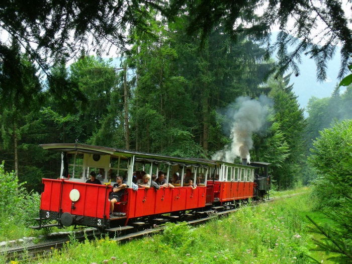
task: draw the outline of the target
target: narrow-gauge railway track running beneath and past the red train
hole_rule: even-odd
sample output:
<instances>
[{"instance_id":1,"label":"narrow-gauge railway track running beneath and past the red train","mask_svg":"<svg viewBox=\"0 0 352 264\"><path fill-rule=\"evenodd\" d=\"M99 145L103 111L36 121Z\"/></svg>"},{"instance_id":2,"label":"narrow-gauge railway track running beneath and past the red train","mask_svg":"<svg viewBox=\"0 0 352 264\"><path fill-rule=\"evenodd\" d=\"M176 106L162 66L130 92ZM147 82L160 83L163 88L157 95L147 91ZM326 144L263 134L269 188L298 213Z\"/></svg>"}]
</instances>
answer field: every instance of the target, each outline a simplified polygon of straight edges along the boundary
<instances>
[{"instance_id":1,"label":"narrow-gauge railway track running beneath and past the red train","mask_svg":"<svg viewBox=\"0 0 352 264\"><path fill-rule=\"evenodd\" d=\"M300 193L301 194L301 193ZM278 199L283 199L283 198L290 198L292 196L295 195L299 195L299 194L292 194L292 195L288 195L285 197L279 197L279 198L271 198L270 200L266 200L266 202L273 202L275 200ZM203 217L203 218L199 218L199 219L194 219L195 217L189 217L189 219L186 219L186 222L189 225L199 225L202 223L205 223L213 218L216 218L218 216L225 216L227 214L233 213L240 210L240 208L234 208L234 209L230 209L230 210L225 210L225 211L219 211L219 212L214 212L211 213L209 215L207 215L207 217ZM151 226L151 228L145 229L145 230L141 230L141 231L137 231L136 229L134 230L134 232L132 233L128 233L128 234L123 234L121 232L116 232L114 234L112 234L113 238L112 240L115 241L119 241L119 242L127 242L130 241L131 239L138 239L138 238L142 238L144 236L153 234L153 233L158 233L161 232L165 229L165 226L157 226L157 225L153 225ZM99 237L101 235L101 233L96 230L94 233L91 234L86 234L84 235L80 235L78 237L75 237L75 240L78 242L84 241L85 239L95 239L96 237ZM46 243L41 243L41 244L37 244L37 245L30 245L30 246L26 246L26 247L18 247L18 248L13 248L13 249L8 249L8 250L1 250L0 254L2 255L6 255L7 256L7 261L10 262L11 260L35 260L39 257L43 257L43 256L47 256L48 254L50 254L53 250L61 250L64 245L67 243L67 241L69 241L70 238L67 236L64 239L60 239L54 242L46 242Z\"/></svg>"}]
</instances>

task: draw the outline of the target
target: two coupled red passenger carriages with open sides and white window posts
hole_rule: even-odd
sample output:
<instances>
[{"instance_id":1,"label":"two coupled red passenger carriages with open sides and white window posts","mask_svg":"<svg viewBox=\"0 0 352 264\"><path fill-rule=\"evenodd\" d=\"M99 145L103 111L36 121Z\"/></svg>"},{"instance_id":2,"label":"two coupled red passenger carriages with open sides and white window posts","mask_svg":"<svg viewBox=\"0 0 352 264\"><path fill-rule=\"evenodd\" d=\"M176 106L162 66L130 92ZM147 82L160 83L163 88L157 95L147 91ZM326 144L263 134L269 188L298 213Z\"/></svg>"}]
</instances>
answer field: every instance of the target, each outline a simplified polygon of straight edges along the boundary
<instances>
[{"instance_id":1,"label":"two coupled red passenger carriages with open sides and white window posts","mask_svg":"<svg viewBox=\"0 0 352 264\"><path fill-rule=\"evenodd\" d=\"M83 144L43 144L44 149L61 152L60 178L43 179L39 226L47 220L57 225L83 225L113 230L158 218L182 219L209 208L253 197L254 167L222 161L169 157L122 149ZM85 183L90 172L98 174L101 185ZM166 182L174 173L178 183L167 188L136 188L135 172L152 175L162 171ZM139 174L139 173L137 173ZM109 194L116 177L123 178L127 188L115 204L110 217ZM192 180L197 188L188 186ZM150 182L149 182L150 183Z\"/></svg>"}]
</instances>

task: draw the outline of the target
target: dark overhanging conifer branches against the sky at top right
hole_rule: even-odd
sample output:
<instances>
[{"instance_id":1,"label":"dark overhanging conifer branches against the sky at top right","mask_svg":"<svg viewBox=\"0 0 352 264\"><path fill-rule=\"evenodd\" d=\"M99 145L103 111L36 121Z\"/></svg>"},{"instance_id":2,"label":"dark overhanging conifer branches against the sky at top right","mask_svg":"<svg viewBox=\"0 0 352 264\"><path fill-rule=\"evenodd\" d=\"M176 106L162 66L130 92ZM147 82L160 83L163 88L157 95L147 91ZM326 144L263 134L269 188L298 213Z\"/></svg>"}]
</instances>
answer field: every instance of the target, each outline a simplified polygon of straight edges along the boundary
<instances>
[{"instance_id":1,"label":"dark overhanging conifer branches against the sky at top right","mask_svg":"<svg viewBox=\"0 0 352 264\"><path fill-rule=\"evenodd\" d=\"M167 12L169 17L188 13L188 32L202 32L203 43L212 29L223 25L232 41L237 41L240 34L265 39L268 44L268 55L278 49L279 61L275 67L276 77L292 68L299 75L299 66L303 54L310 55L317 66L317 78L326 78L327 61L334 56L335 45L341 44L341 67L339 77L347 71L352 53L351 30L348 18L342 10L342 3L333 0L322 2L311 1L262 1L245 0L186 0L170 1ZM257 10L262 9L257 15ZM291 19L293 22L291 22ZM247 22L247 24L246 24ZM293 25L292 25L293 24ZM275 43L270 43L271 27L279 25L280 33ZM312 29L318 27L320 34ZM316 44L318 43L318 44ZM324 44L321 44L324 43ZM294 47L292 52L288 51Z\"/></svg>"}]
</instances>

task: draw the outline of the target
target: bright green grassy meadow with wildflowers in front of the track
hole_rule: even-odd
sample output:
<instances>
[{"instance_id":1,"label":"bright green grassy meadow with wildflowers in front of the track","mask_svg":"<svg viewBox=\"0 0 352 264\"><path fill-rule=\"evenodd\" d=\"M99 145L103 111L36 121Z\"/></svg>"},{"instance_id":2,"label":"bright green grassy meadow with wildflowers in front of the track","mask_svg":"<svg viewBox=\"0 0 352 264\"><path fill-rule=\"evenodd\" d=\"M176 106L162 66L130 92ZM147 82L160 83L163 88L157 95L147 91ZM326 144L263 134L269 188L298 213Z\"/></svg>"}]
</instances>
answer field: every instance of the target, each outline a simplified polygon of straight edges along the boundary
<instances>
[{"instance_id":1,"label":"bright green grassy meadow with wildflowers in front of the track","mask_svg":"<svg viewBox=\"0 0 352 264\"><path fill-rule=\"evenodd\" d=\"M228 217L190 227L168 224L156 234L125 244L108 238L76 243L53 250L50 257L35 263L313 263L311 234L306 233L305 214L309 194L243 207ZM320 255L314 255L325 260Z\"/></svg>"}]
</instances>

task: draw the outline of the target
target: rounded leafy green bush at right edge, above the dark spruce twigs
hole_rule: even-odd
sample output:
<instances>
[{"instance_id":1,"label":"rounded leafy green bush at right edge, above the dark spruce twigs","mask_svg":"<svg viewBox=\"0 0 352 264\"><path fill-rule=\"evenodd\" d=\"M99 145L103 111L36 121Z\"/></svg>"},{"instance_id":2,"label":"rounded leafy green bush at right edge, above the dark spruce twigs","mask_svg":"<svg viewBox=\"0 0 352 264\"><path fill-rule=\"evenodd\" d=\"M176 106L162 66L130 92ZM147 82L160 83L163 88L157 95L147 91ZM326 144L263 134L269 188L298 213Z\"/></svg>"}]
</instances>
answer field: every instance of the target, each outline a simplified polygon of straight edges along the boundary
<instances>
[{"instance_id":1,"label":"rounded leafy green bush at right edge, above the dark spruce twigs","mask_svg":"<svg viewBox=\"0 0 352 264\"><path fill-rule=\"evenodd\" d=\"M352 189L352 121L336 123L320 132L314 142L310 162L319 178L313 182L313 195L319 208L338 207Z\"/></svg>"}]
</instances>

